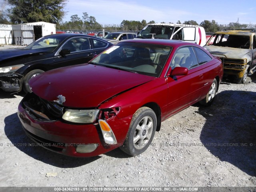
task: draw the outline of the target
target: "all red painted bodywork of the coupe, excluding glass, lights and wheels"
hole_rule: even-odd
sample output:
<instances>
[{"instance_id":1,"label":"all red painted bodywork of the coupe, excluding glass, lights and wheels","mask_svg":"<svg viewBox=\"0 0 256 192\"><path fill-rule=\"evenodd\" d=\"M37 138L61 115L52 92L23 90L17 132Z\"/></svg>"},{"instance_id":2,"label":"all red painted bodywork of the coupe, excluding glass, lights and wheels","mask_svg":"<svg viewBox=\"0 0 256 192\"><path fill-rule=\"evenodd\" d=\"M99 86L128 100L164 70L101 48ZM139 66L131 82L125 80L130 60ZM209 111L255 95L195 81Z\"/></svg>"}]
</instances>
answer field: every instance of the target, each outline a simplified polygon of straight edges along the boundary
<instances>
[{"instance_id":1,"label":"all red painted bodywork of the coupe, excluding glass, lights and wheels","mask_svg":"<svg viewBox=\"0 0 256 192\"><path fill-rule=\"evenodd\" d=\"M106 153L122 145L128 132L132 116L142 106L158 106L158 120L164 121L188 106L202 100L217 78L222 80L223 69L219 59L196 44L175 40L128 40L127 42L162 44L172 46L172 52L159 77L132 73L113 68L81 64L45 72L30 80L34 94L52 102L63 95L66 108L96 108L102 111L116 109L116 114L106 121L110 125L117 145L106 146L98 125L72 124L58 119L52 122L38 121L25 110L23 102L18 107L18 116L26 133L50 142L64 144L98 144L94 152L77 153L75 146L64 146L60 150L48 148L60 154L90 157ZM117 44L118 45L118 44ZM182 46L196 46L212 58L207 63L190 68L188 74L169 76L175 52ZM104 114L104 112L103 112ZM102 118L102 117L98 117ZM159 125L159 124L158 124Z\"/></svg>"}]
</instances>

